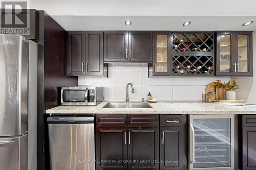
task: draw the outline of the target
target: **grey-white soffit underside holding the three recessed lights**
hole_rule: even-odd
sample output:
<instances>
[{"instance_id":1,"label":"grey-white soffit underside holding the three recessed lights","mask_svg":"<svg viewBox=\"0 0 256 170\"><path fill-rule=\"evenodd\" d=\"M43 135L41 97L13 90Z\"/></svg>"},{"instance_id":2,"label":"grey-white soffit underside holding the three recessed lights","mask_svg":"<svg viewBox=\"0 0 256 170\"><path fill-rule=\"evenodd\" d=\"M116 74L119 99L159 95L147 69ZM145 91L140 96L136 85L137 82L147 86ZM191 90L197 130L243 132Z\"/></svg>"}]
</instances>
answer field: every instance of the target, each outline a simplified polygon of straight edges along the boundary
<instances>
[{"instance_id":1,"label":"grey-white soffit underside holding the three recessed lights","mask_svg":"<svg viewBox=\"0 0 256 170\"><path fill-rule=\"evenodd\" d=\"M254 31L256 16L52 16L65 30L197 30L197 31ZM132 21L126 26L124 21ZM183 27L184 21L191 24ZM254 20L250 26L243 27L246 21Z\"/></svg>"}]
</instances>

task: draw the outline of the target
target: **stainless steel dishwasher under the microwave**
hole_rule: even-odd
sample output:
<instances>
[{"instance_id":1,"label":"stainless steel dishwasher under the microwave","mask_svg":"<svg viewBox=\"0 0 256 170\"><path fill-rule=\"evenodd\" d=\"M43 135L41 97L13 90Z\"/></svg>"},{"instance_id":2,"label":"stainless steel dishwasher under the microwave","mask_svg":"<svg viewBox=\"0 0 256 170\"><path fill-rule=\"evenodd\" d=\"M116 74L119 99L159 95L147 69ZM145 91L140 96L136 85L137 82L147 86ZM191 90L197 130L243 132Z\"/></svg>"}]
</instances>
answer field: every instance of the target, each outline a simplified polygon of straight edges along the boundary
<instances>
[{"instance_id":1,"label":"stainless steel dishwasher under the microwave","mask_svg":"<svg viewBox=\"0 0 256 170\"><path fill-rule=\"evenodd\" d=\"M48 117L51 170L94 170L94 117Z\"/></svg>"}]
</instances>

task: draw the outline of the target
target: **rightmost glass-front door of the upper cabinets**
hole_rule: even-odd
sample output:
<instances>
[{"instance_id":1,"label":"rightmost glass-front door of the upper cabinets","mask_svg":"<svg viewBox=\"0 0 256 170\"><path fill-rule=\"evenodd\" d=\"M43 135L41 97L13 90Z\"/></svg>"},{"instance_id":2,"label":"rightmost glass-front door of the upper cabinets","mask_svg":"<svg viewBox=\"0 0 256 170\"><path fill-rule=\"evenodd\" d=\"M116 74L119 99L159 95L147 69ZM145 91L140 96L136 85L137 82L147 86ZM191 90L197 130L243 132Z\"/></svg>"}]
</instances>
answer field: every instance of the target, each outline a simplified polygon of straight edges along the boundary
<instances>
[{"instance_id":1,"label":"rightmost glass-front door of the upper cabinets","mask_svg":"<svg viewBox=\"0 0 256 170\"><path fill-rule=\"evenodd\" d=\"M251 32L236 32L236 39L237 39L237 75L240 76L250 76L252 74L251 67L252 67L252 33Z\"/></svg>"}]
</instances>

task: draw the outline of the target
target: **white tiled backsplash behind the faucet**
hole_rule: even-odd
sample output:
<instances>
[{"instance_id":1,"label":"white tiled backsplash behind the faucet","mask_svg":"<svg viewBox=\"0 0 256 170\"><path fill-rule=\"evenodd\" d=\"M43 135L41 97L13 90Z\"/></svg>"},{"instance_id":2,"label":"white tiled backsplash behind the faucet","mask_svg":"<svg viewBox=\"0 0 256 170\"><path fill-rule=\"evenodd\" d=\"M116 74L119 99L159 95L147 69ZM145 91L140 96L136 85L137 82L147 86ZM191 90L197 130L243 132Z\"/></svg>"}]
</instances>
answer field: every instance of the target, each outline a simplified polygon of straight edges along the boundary
<instances>
[{"instance_id":1,"label":"white tiled backsplash behind the faucet","mask_svg":"<svg viewBox=\"0 0 256 170\"><path fill-rule=\"evenodd\" d=\"M227 82L230 77L161 77L147 78L147 67L142 66L111 66L109 67L109 78L78 78L78 85L103 86L106 101L124 101L126 95L126 84L134 85L135 93L131 93L129 87L130 101L147 99L150 91L153 98L168 101L199 101L202 99L205 87L210 82L221 79Z\"/></svg>"}]
</instances>

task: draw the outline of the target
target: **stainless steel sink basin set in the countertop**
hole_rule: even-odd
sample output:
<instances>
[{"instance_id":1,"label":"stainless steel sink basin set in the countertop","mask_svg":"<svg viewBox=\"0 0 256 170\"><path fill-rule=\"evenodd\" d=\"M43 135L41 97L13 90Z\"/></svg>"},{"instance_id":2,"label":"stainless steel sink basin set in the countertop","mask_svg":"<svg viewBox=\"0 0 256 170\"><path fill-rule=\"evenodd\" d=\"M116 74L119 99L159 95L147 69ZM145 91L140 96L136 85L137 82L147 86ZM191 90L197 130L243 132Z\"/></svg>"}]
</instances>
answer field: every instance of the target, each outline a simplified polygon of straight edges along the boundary
<instances>
[{"instance_id":1,"label":"stainless steel sink basin set in the countertop","mask_svg":"<svg viewBox=\"0 0 256 170\"><path fill-rule=\"evenodd\" d=\"M109 102L104 108L152 108L150 105L144 102L140 103L111 103Z\"/></svg>"}]
</instances>

